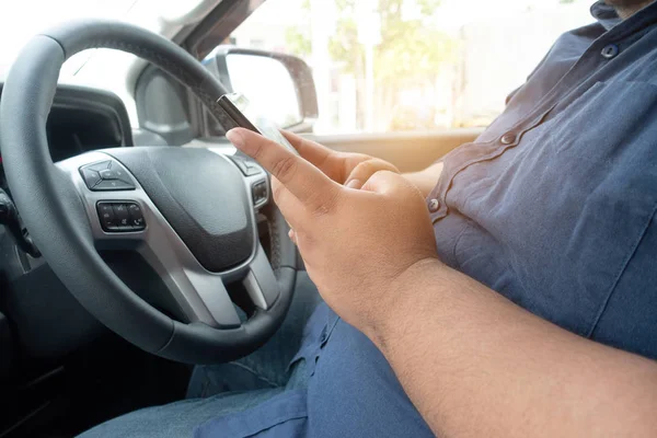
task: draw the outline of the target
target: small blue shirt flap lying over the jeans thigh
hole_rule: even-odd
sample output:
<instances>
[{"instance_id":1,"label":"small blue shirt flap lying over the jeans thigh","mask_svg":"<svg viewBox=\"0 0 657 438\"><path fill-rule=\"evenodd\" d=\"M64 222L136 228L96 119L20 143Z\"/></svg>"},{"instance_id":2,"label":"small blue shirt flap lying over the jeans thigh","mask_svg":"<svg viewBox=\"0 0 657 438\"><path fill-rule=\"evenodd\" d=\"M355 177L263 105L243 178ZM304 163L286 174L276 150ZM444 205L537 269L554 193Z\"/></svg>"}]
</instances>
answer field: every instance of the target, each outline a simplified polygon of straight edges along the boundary
<instances>
[{"instance_id":1,"label":"small blue shirt flap lying over the jeans thigh","mask_svg":"<svg viewBox=\"0 0 657 438\"><path fill-rule=\"evenodd\" d=\"M198 426L195 438L287 438L308 433L306 391L287 391L270 400Z\"/></svg>"}]
</instances>

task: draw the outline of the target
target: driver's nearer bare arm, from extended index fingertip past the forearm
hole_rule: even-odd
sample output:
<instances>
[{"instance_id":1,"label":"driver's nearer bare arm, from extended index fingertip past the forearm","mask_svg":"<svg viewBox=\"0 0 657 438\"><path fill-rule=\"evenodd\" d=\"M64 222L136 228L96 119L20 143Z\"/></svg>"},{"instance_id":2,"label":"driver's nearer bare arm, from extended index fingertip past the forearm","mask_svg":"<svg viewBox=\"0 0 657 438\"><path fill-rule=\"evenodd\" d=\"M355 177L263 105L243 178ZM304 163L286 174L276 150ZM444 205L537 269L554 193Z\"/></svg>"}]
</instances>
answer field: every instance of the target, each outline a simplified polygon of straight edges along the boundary
<instances>
[{"instance_id":1,"label":"driver's nearer bare arm, from extended index fingertip past the forearm","mask_svg":"<svg viewBox=\"0 0 657 438\"><path fill-rule=\"evenodd\" d=\"M437 260L417 188L357 191L245 129L322 297L377 344L441 437L652 437L657 365L576 336Z\"/></svg>"}]
</instances>

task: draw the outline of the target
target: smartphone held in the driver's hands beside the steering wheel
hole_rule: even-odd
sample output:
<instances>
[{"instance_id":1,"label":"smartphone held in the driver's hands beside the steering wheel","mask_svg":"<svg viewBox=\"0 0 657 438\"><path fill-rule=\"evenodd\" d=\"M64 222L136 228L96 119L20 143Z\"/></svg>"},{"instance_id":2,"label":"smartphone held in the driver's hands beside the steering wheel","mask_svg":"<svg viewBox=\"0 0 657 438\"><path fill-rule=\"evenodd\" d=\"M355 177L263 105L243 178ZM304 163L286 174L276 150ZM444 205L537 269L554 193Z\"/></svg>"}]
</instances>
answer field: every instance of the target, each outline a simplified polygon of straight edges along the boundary
<instances>
[{"instance_id":1,"label":"smartphone held in the driver's hands beside the steering wheel","mask_svg":"<svg viewBox=\"0 0 657 438\"><path fill-rule=\"evenodd\" d=\"M235 127L246 128L261 134L272 141L289 149L297 155L297 149L280 134L278 127L263 116L254 105L241 93L224 94L217 101L221 110L233 122Z\"/></svg>"}]
</instances>

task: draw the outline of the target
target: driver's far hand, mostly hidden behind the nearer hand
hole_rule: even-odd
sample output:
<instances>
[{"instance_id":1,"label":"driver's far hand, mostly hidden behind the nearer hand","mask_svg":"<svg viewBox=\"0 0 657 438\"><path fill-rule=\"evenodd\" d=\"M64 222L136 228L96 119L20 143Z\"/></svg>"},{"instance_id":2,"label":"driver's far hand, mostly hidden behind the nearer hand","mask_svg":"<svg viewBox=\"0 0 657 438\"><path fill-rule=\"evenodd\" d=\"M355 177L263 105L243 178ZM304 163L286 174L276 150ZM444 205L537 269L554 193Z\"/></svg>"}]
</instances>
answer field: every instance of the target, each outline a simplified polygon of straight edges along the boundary
<instances>
[{"instance_id":1,"label":"driver's far hand, mostly hidden behind the nearer hand","mask_svg":"<svg viewBox=\"0 0 657 438\"><path fill-rule=\"evenodd\" d=\"M336 152L288 131L283 131L283 135L307 161L331 180L350 188L362 187L379 171L400 173L394 165L378 158L364 153Z\"/></svg>"}]
</instances>

